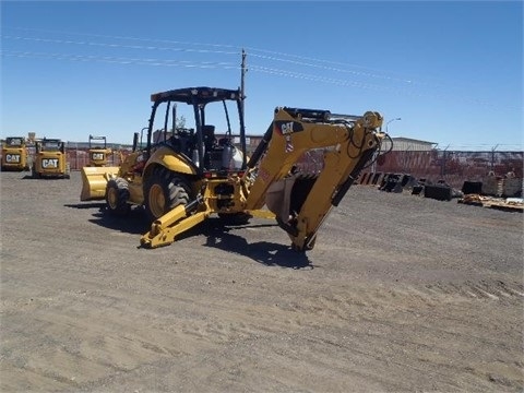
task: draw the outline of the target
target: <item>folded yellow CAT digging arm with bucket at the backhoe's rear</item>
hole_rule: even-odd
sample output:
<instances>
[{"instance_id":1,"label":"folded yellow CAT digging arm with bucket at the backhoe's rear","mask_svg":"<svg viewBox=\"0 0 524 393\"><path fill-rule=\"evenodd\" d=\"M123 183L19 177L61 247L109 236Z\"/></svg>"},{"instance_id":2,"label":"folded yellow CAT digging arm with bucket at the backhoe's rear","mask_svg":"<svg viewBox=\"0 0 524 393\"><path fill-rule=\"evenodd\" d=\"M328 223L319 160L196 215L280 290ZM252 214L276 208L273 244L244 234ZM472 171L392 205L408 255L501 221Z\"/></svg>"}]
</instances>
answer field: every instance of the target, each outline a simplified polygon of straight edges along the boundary
<instances>
[{"instance_id":1,"label":"folded yellow CAT digging arm with bucket at the backhoe's rear","mask_svg":"<svg viewBox=\"0 0 524 393\"><path fill-rule=\"evenodd\" d=\"M272 124L248 163L246 210L265 204L299 251L317 233L361 169L380 148L382 117L332 115L327 110L276 108ZM300 170L308 151L323 156L317 172ZM249 181L248 179L254 179Z\"/></svg>"}]
</instances>

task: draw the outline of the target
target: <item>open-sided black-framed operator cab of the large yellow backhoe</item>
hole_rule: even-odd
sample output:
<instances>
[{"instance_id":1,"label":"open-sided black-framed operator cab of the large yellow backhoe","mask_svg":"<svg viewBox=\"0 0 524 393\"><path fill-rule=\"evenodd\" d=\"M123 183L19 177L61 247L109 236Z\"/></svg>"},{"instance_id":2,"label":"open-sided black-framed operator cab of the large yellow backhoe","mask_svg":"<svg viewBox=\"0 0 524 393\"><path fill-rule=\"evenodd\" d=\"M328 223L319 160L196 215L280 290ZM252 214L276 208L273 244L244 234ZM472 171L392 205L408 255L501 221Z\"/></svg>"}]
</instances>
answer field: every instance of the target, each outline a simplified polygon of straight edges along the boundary
<instances>
[{"instance_id":1,"label":"open-sided black-framed operator cab of the large yellow backhoe","mask_svg":"<svg viewBox=\"0 0 524 393\"><path fill-rule=\"evenodd\" d=\"M227 174L246 168L246 132L239 91L189 87L153 94L152 100L150 153L157 145L169 146L183 154L188 164L201 174ZM234 132L240 135L240 146L233 143Z\"/></svg>"}]
</instances>

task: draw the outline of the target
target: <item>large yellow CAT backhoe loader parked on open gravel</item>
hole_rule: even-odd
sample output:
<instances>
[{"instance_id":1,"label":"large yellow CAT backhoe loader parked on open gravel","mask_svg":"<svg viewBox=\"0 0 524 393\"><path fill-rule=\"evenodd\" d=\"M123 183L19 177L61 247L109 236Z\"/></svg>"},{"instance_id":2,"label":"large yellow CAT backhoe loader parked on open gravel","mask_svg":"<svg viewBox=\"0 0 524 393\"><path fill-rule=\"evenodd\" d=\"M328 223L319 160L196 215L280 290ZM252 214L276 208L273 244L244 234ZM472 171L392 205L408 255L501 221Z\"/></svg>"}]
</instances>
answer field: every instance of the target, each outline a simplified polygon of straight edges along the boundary
<instances>
[{"instance_id":1,"label":"large yellow CAT backhoe loader parked on open gravel","mask_svg":"<svg viewBox=\"0 0 524 393\"><path fill-rule=\"evenodd\" d=\"M135 133L133 152L118 171L84 168L91 171L83 174L82 192L83 200L104 192L107 210L116 215L143 206L151 221L151 230L140 241L144 248L170 245L216 214L235 224L253 216L276 219L293 249L311 250L329 212L377 158L385 136L376 111L352 116L277 107L248 159L240 90L188 87L153 94L151 100L145 146L139 147ZM238 133L231 129L231 103ZM187 128L184 116L177 116L180 104L190 108L193 128ZM224 109L218 140L217 120L210 122L207 116L217 114L212 104ZM309 172L301 165L308 152L321 158Z\"/></svg>"}]
</instances>

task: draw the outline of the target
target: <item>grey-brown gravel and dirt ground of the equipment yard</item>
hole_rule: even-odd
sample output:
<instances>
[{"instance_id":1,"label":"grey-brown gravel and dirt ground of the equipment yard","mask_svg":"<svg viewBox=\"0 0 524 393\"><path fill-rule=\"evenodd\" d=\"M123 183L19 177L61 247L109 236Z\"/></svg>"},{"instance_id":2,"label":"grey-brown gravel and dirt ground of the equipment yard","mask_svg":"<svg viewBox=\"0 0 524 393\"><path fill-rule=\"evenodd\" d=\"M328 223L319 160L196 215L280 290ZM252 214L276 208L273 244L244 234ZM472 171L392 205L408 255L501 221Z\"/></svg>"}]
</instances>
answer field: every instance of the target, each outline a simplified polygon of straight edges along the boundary
<instances>
[{"instance_id":1,"label":"grey-brown gravel and dirt ground of the equipment yard","mask_svg":"<svg viewBox=\"0 0 524 393\"><path fill-rule=\"evenodd\" d=\"M1 392L522 392L523 215L354 186L139 249L81 176L2 172Z\"/></svg>"}]
</instances>

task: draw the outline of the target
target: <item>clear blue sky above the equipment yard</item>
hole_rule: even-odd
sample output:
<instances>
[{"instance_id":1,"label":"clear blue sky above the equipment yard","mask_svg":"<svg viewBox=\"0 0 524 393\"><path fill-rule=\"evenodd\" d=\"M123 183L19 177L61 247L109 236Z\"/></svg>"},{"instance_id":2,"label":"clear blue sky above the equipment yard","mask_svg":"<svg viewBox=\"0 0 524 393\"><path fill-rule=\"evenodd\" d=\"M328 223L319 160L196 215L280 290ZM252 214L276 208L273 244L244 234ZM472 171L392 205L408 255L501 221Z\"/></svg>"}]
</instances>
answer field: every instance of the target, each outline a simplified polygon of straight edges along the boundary
<instances>
[{"instance_id":1,"label":"clear blue sky above the equipment yard","mask_svg":"<svg viewBox=\"0 0 524 393\"><path fill-rule=\"evenodd\" d=\"M0 136L131 143L155 92L240 85L439 148L523 150L522 1L2 1Z\"/></svg>"}]
</instances>

